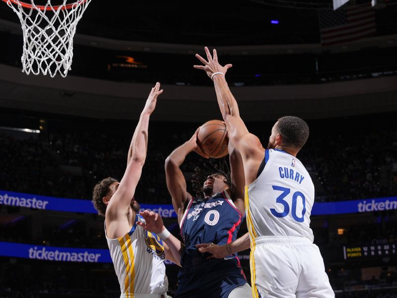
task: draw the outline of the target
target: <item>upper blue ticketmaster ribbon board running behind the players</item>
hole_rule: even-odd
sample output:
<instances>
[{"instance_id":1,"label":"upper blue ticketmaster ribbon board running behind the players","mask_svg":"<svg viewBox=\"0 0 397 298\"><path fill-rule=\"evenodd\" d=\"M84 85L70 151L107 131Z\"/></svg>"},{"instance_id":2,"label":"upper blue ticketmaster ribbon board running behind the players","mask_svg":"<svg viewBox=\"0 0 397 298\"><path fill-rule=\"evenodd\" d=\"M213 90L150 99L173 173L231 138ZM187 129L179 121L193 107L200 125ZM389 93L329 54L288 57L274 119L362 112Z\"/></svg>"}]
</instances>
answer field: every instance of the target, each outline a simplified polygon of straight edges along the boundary
<instances>
[{"instance_id":1,"label":"upper blue ticketmaster ribbon board running behind the players","mask_svg":"<svg viewBox=\"0 0 397 298\"><path fill-rule=\"evenodd\" d=\"M79 213L94 213L92 202L89 200L76 200L55 197L37 196L32 194L16 193L0 190L0 204L26 208L55 210ZM176 218L177 215L172 205L142 204L141 210L157 212L163 218ZM341 201L330 203L315 203L312 215L331 215L343 213L363 213L373 211L387 211L397 209L397 197Z\"/></svg>"}]
</instances>

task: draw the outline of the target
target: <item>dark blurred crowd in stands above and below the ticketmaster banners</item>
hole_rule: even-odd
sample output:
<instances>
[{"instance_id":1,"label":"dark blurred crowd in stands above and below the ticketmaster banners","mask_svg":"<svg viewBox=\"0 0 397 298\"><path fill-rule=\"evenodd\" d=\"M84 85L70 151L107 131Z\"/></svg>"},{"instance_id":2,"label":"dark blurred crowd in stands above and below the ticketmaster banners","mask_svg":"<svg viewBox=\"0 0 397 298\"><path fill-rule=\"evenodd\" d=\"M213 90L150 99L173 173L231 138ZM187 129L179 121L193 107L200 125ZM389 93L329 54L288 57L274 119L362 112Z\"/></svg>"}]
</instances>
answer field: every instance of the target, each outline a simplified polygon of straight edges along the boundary
<instances>
[{"instance_id":1,"label":"dark blurred crowd in stands above and below the ticketmaster banners","mask_svg":"<svg viewBox=\"0 0 397 298\"><path fill-rule=\"evenodd\" d=\"M308 121L310 137L298 158L313 179L317 201L396 196L397 124L391 118L391 115L368 115ZM135 125L136 122L127 121L48 120L40 134L2 130L0 189L91 200L92 188L102 178L122 178ZM272 125L273 122L247 123L250 132L264 146ZM138 202L171 203L164 161L173 149L190 139L198 126L198 123L150 123L147 159L135 193ZM208 160L192 152L182 165L189 191L192 191L189 180L194 168L204 163ZM15 207L0 207L7 209L7 214L18 212ZM18 222L2 225L0 240L106 249L103 223L95 215L79 215L71 217L72 220L65 217L59 221L63 224L49 221L41 224L40 234L32 230L33 217L32 213ZM325 224L313 227L315 243L322 250L336 298L397 297L395 269L382 271L366 281L361 278L360 270L356 273L348 269L331 270L329 264L333 259L340 262L342 258L343 245L396 243L393 211L375 212L366 220L370 222L341 224L344 228L341 234L329 228L328 219L324 219ZM175 221L165 220L165 223L172 232L178 228ZM245 232L244 228L241 232ZM40 261L0 258L0 265L0 298L119 297L111 264L46 262L44 265ZM242 260L242 265L249 277L248 261ZM177 268L173 267L167 266L171 296L177 283ZM37 272L41 272L40 276Z\"/></svg>"}]
</instances>

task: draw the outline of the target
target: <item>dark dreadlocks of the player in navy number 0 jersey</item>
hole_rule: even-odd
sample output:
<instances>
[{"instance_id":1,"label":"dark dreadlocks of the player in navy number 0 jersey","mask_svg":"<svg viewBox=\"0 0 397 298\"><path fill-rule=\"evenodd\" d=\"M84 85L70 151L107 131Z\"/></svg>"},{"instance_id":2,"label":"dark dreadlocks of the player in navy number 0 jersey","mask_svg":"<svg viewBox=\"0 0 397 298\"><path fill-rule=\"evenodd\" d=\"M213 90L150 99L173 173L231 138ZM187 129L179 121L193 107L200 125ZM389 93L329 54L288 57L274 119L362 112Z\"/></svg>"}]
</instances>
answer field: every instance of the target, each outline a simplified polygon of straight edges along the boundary
<instances>
[{"instance_id":1,"label":"dark dreadlocks of the player in navy number 0 jersey","mask_svg":"<svg viewBox=\"0 0 397 298\"><path fill-rule=\"evenodd\" d=\"M205 180L207 180L207 177L209 175L222 175L226 179L225 183L229 187L231 187L232 185L230 169L226 159L220 158L216 161L210 160L209 164L204 163L203 167L198 166L195 168L195 173L193 174L193 179L191 181L192 181L193 190L196 193L196 198L202 199L203 197L202 193L204 191L202 184L204 183Z\"/></svg>"}]
</instances>

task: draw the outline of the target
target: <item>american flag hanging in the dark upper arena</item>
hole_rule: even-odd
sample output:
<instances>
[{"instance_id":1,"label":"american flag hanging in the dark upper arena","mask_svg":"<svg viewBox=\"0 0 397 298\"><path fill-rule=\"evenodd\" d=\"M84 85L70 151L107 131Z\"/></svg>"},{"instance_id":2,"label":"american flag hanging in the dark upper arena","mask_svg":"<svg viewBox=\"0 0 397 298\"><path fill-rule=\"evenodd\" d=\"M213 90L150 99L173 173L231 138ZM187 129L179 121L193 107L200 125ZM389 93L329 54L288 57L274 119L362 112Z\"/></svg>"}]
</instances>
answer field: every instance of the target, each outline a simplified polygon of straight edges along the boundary
<instances>
[{"instance_id":1,"label":"american flag hanging in the dark upper arena","mask_svg":"<svg viewBox=\"0 0 397 298\"><path fill-rule=\"evenodd\" d=\"M376 33L375 11L371 6L319 10L321 44L331 46Z\"/></svg>"}]
</instances>

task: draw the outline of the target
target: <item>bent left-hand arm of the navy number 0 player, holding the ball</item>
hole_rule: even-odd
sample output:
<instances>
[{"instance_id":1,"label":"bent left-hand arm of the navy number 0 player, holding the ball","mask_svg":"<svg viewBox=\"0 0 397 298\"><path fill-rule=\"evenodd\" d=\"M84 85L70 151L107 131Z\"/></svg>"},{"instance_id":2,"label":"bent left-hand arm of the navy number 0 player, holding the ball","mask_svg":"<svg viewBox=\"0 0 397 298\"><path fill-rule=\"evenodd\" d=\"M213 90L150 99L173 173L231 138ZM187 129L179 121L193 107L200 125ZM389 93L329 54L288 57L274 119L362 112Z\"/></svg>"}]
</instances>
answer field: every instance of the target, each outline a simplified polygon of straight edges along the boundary
<instances>
[{"instance_id":1,"label":"bent left-hand arm of the navy number 0 player, holding the ball","mask_svg":"<svg viewBox=\"0 0 397 298\"><path fill-rule=\"evenodd\" d=\"M201 152L197 145L199 130L200 128L196 130L189 141L172 151L165 160L165 178L168 191L172 197L172 205L178 215L178 223L181 222L187 203L192 200L191 194L186 190L186 180L180 166L185 161L186 156L192 151L196 151L201 156L208 158Z\"/></svg>"}]
</instances>

